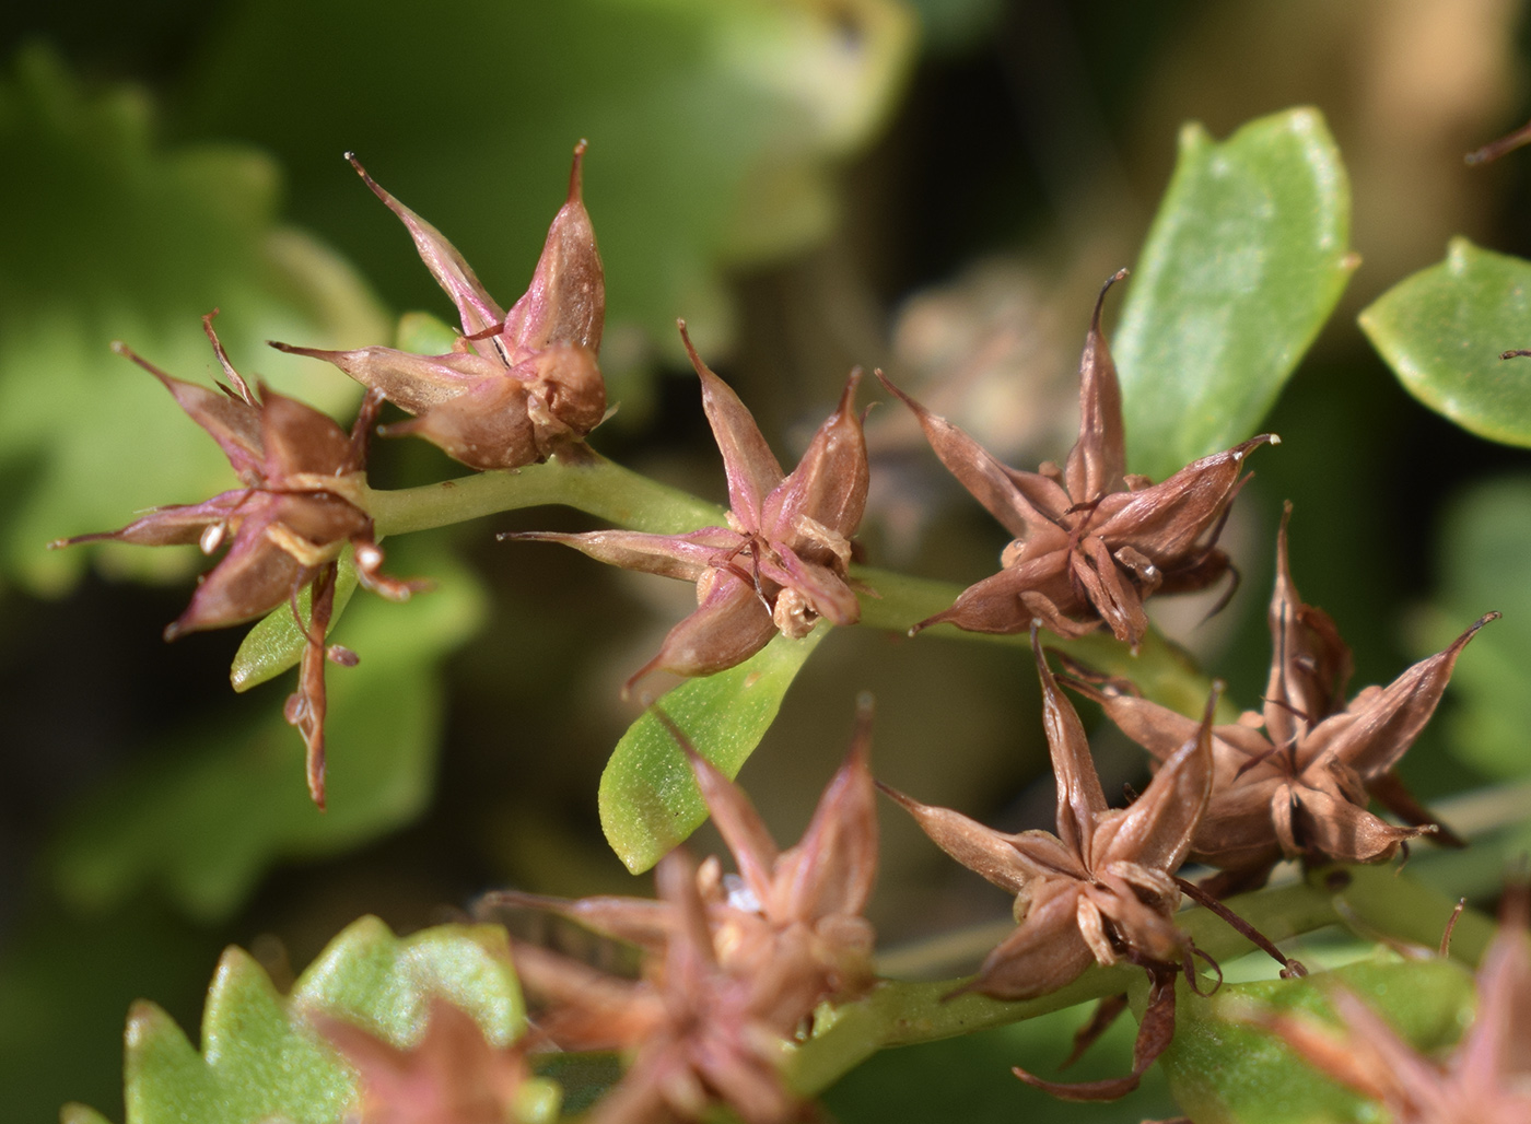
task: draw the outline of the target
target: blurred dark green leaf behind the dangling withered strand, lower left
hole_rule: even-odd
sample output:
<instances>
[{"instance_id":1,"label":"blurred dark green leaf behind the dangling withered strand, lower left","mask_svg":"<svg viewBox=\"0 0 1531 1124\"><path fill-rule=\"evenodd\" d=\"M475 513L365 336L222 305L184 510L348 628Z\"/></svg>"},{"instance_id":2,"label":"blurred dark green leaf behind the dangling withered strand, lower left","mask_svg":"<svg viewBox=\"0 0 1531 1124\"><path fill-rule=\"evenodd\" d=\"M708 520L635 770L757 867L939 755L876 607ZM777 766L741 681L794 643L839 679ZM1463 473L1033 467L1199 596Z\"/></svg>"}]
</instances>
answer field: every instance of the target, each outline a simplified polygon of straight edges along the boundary
<instances>
[{"instance_id":1,"label":"blurred dark green leaf behind the dangling withered strand, lower left","mask_svg":"<svg viewBox=\"0 0 1531 1124\"><path fill-rule=\"evenodd\" d=\"M66 821L54 861L64 897L98 910L156 884L191 916L222 919L276 859L334 854L419 815L442 718L438 665L484 606L478 580L447 557L421 571L436 590L403 605L363 596L337 634L361 663L328 675L328 812L308 798L303 741L280 697L246 698L259 717L220 738L188 732Z\"/></svg>"}]
</instances>

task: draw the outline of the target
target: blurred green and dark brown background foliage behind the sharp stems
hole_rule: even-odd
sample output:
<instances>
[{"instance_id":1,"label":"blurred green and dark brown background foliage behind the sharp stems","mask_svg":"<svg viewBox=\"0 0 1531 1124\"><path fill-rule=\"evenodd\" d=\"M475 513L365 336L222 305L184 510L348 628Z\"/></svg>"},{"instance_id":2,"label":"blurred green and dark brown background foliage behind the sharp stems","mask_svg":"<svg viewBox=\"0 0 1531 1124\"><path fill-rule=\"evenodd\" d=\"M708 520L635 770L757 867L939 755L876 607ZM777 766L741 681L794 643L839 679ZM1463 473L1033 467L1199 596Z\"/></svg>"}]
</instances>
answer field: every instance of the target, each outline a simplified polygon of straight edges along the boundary
<instances>
[{"instance_id":1,"label":"blurred green and dark brown background foliage behind the sharp stems","mask_svg":"<svg viewBox=\"0 0 1531 1124\"><path fill-rule=\"evenodd\" d=\"M228 484L217 449L110 354L113 338L205 378L197 317L219 306L240 371L344 418L354 386L262 341L361 346L386 341L403 311L447 314L398 222L341 161L348 149L510 303L562 201L570 150L588 138L609 285L602 363L620 401L594 444L721 498L695 380L677 363L677 315L782 459L862 363L1029 467L1072 439L1092 296L1136 259L1180 123L1225 136L1317 106L1352 176L1364 263L1268 424L1283 447L1262 453L1228 527L1242 591L1211 623L1170 605L1164 625L1254 703L1289 498L1297 582L1353 646L1356 686L1390 680L1488 608L1507 613L1464 660L1461 704L1405 775L1441 793L1526 772L1513 712L1531 698L1517 663L1531 605L1517 622L1500 599L1526 602L1531 587L1510 591L1499 574L1531 553L1531 467L1415 404L1353 322L1453 234L1531 253L1531 161L1461 161L1526 115L1522 31L1516 0L9 6L6 1118L51 1119L83 1099L119 1119L129 1003L155 998L193 1028L225 943L280 982L363 913L407 931L490 887L648 893L600 839L596 781L635 712L617 685L690 591L493 541L588 527L580 516L517 513L389 544L393 573L441 588L407 606L363 594L348 611L338 639L361 665L331 674L325 816L280 720L288 686L228 689L237 632L159 642L194 551L44 550ZM1001 531L908 418L874 410L870 438L870 559L960 582L991 573ZM453 475L419 443L375 447L378 485ZM1035 678L1017 652L856 631L814 655L743 773L778 838L804 825L860 689L879 697L880 776L1012 830L1050 818L1052 781L1035 783ZM1108 790L1142 770L1110 737L1099 753ZM885 833L873 907L885 940L1007 911L911 825L888 816ZM994 1070L994 1095L975 1084L965 1119L1014 1115L1023 1090L1006 1050L1038 1034L997 1032L965 1055ZM1118 1037L1119 1060L1127 1044ZM890 1103L916 1103L890 1101L890 1083L939 1084L929 1075L951 1073L951 1054L886 1058L836 1090L833 1110L882 1119ZM1027 1112L1044 1119L1047 1104ZM1150 1089L1093 1112L1170 1109Z\"/></svg>"}]
</instances>

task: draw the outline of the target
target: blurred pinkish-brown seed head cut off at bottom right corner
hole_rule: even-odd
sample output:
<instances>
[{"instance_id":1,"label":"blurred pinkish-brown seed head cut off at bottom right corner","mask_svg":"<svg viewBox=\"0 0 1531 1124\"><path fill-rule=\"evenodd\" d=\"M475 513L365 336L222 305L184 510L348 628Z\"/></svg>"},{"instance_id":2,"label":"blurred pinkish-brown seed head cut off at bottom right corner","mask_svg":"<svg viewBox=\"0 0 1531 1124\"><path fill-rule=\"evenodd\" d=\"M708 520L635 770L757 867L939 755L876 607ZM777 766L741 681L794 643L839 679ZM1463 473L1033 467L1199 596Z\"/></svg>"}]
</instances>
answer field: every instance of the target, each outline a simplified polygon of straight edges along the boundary
<instances>
[{"instance_id":1,"label":"blurred pinkish-brown seed head cut off at bottom right corner","mask_svg":"<svg viewBox=\"0 0 1531 1124\"><path fill-rule=\"evenodd\" d=\"M1341 1032L1309 1017L1268 1014L1315 1069L1381 1101L1393 1124L1525 1124L1531 1119L1531 945L1526 888L1505 896L1499 933L1477 974L1477 1017L1445 1064L1421 1057L1355 992L1329 994Z\"/></svg>"}]
</instances>

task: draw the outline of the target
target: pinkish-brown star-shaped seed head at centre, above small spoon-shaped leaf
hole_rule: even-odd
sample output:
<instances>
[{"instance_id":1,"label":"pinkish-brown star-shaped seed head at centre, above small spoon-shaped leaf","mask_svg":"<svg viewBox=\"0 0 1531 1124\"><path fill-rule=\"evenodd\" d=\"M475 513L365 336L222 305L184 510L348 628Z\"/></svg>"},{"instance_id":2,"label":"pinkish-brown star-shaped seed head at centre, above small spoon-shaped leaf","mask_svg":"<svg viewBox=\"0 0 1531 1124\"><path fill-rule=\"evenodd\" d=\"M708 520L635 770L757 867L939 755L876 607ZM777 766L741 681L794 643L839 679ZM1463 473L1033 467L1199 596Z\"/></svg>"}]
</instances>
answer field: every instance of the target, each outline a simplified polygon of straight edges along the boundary
<instances>
[{"instance_id":1,"label":"pinkish-brown star-shaped seed head at centre, above small spoon-shaped leaf","mask_svg":"<svg viewBox=\"0 0 1531 1124\"><path fill-rule=\"evenodd\" d=\"M839 407L819 426L798 467L782 476L744 403L697 355L684 322L680 331L723 452L729 525L684 534L501 536L563 542L611 565L697 583L697 611L671 629L623 694L652 671L724 671L752 657L776 632L807 636L821 617L834 625L860 620L860 605L845 577L850 539L867 508L867 443L854 407L860 369L845 381Z\"/></svg>"}]
</instances>

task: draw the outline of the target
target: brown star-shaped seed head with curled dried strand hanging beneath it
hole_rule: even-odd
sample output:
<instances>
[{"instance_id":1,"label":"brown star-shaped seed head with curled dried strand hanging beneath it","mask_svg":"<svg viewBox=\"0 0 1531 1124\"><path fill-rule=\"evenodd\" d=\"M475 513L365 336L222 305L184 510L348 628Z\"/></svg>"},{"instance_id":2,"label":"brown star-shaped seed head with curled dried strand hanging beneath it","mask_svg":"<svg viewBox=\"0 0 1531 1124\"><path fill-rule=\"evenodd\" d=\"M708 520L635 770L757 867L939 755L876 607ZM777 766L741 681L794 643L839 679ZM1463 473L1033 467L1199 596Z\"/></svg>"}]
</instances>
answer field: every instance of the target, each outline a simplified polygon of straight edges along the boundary
<instances>
[{"instance_id":1,"label":"brown star-shaped seed head with curled dried strand hanging beneath it","mask_svg":"<svg viewBox=\"0 0 1531 1124\"><path fill-rule=\"evenodd\" d=\"M920 804L879 784L957 862L1015 894L1018 926L984 959L968 985L995 998L1033 998L1075 980L1092 963L1142 965L1153 977L1139 1023L1133 1073L1116 1081L1064 1086L1017 1070L1030 1084L1075 1099L1121 1096L1136 1087L1173 1034L1174 974L1191 957L1174 923L1180 902L1174 871L1206 810L1213 784L1211 721L1188 738L1127 809L1108 809L1073 706L1058 689L1032 625L1043 683L1043 720L1058 783L1058 835L995 832L951 809Z\"/></svg>"}]
</instances>

